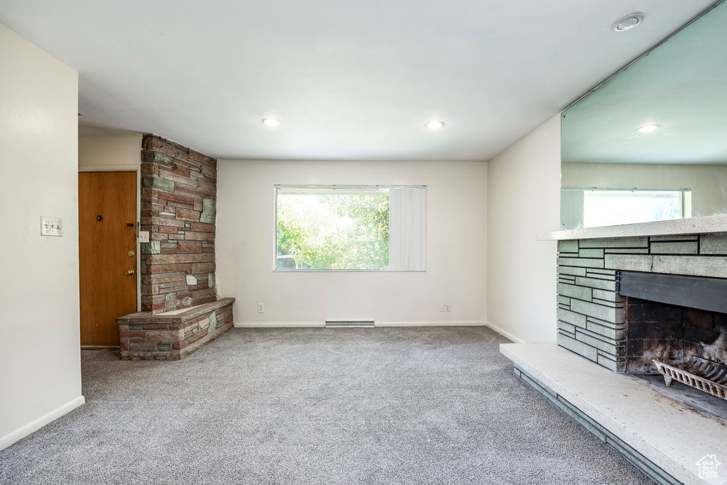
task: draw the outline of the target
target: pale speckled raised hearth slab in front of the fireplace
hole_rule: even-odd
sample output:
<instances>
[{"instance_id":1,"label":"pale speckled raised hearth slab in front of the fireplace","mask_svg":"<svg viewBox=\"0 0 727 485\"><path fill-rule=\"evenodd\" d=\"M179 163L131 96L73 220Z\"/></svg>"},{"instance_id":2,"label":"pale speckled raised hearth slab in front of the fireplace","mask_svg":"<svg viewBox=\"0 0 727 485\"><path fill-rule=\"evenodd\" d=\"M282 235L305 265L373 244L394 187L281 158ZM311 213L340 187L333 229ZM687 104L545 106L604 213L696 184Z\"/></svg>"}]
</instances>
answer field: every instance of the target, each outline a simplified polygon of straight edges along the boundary
<instances>
[{"instance_id":1,"label":"pale speckled raised hearth slab in front of the fireplace","mask_svg":"<svg viewBox=\"0 0 727 485\"><path fill-rule=\"evenodd\" d=\"M502 344L500 352L551 397L553 393L560 396L678 481L727 484L727 468L718 471L717 479L704 481L696 465L708 454L726 462L727 421L664 396L628 374L611 372L555 342Z\"/></svg>"}]
</instances>

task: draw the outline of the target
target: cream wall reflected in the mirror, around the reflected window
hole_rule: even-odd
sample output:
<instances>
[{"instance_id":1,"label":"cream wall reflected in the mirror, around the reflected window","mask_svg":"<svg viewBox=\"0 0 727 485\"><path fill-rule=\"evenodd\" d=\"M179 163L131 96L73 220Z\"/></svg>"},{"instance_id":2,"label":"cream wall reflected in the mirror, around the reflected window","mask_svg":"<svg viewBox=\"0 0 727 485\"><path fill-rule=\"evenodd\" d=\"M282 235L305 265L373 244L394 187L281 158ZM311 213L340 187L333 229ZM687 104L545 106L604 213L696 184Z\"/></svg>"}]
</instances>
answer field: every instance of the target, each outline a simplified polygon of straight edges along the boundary
<instances>
[{"instance_id":1,"label":"cream wall reflected in the mirror, around the reflected window","mask_svg":"<svg viewBox=\"0 0 727 485\"><path fill-rule=\"evenodd\" d=\"M563 187L691 188L691 215L727 213L727 165L563 164Z\"/></svg>"}]
</instances>

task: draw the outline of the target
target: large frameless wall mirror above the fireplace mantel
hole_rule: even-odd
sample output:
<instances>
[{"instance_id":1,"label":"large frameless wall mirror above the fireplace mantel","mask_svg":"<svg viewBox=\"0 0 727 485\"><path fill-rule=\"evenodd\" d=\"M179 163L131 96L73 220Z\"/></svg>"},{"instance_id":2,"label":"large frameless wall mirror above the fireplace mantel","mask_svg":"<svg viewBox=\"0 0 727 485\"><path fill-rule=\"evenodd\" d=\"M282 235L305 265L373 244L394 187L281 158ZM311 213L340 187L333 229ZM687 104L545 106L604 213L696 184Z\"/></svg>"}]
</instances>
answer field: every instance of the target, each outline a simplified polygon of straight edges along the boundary
<instances>
[{"instance_id":1,"label":"large frameless wall mirror above the fireplace mantel","mask_svg":"<svg viewBox=\"0 0 727 485\"><path fill-rule=\"evenodd\" d=\"M562 113L561 229L727 214L725 25L720 2Z\"/></svg>"}]
</instances>

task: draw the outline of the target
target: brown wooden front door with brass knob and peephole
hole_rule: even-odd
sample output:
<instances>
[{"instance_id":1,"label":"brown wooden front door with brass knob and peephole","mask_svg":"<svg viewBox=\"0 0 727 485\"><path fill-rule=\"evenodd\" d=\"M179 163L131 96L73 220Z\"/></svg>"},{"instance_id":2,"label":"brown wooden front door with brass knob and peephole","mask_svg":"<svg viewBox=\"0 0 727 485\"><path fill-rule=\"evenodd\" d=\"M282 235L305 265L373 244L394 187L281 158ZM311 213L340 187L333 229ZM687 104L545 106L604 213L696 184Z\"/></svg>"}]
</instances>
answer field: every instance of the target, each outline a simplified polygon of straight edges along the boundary
<instances>
[{"instance_id":1,"label":"brown wooden front door with brass knob and peephole","mask_svg":"<svg viewBox=\"0 0 727 485\"><path fill-rule=\"evenodd\" d=\"M81 345L119 345L136 308L136 172L79 173Z\"/></svg>"}]
</instances>

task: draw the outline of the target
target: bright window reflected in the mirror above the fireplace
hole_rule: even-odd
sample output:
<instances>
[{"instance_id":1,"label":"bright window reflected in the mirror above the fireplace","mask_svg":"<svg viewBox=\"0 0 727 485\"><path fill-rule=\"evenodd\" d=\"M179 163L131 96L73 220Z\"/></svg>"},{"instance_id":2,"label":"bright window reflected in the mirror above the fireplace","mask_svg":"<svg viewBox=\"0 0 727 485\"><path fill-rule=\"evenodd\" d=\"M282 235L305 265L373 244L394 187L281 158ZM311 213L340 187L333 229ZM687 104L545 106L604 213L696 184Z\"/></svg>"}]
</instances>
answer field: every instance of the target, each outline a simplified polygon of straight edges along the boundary
<instances>
[{"instance_id":1,"label":"bright window reflected in the mirror above the fireplace","mask_svg":"<svg viewBox=\"0 0 727 485\"><path fill-rule=\"evenodd\" d=\"M562 194L563 214L573 220L575 228L691 217L691 191L686 189L569 188Z\"/></svg>"}]
</instances>

